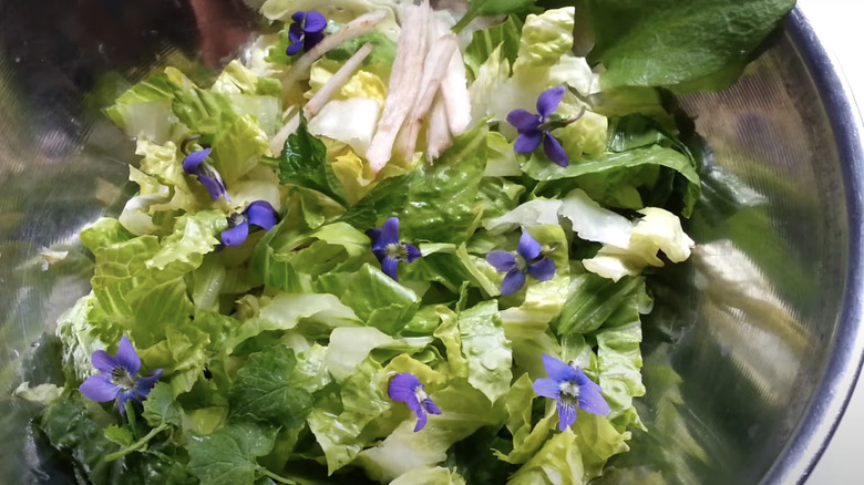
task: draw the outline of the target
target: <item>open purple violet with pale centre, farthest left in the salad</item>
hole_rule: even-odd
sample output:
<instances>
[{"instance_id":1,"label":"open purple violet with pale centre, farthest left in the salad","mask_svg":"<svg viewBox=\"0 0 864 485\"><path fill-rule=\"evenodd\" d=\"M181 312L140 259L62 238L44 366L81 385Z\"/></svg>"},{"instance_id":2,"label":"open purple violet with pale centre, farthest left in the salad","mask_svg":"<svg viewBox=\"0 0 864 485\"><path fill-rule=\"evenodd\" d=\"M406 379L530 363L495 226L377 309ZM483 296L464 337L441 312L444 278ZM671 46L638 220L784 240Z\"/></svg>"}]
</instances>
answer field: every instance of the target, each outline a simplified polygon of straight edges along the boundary
<instances>
[{"instance_id":1,"label":"open purple violet with pale centre, farthest left in the salad","mask_svg":"<svg viewBox=\"0 0 864 485\"><path fill-rule=\"evenodd\" d=\"M79 388L84 398L95 402L117 400L122 416L126 415L126 401L141 403L162 375L156 369L147 378L140 378L141 358L126 336L120 339L117 354L111 355L104 350L93 352L90 358L100 373L89 376Z\"/></svg>"}]
</instances>

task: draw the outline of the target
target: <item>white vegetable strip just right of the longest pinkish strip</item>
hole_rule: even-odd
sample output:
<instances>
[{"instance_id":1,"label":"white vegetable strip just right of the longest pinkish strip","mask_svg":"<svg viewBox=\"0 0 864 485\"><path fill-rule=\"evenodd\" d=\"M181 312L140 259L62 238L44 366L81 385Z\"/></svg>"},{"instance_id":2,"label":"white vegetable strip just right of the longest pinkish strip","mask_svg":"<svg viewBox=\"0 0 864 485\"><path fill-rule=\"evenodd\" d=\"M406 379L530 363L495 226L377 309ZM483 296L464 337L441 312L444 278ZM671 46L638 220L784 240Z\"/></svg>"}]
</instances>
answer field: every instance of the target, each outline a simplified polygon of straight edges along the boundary
<instances>
[{"instance_id":1,"label":"white vegetable strip just right of the longest pinkish strip","mask_svg":"<svg viewBox=\"0 0 864 485\"><path fill-rule=\"evenodd\" d=\"M420 128L423 125L423 118L432 107L441 86L441 81L446 74L450 60L453 59L453 52L459 51L456 35L449 33L436 39L429 50L424 65L423 79L420 83L420 96L414 101L411 112L402 126L402 133L399 134L399 145L397 153L405 159L414 155L416 138L420 135Z\"/></svg>"}]
</instances>

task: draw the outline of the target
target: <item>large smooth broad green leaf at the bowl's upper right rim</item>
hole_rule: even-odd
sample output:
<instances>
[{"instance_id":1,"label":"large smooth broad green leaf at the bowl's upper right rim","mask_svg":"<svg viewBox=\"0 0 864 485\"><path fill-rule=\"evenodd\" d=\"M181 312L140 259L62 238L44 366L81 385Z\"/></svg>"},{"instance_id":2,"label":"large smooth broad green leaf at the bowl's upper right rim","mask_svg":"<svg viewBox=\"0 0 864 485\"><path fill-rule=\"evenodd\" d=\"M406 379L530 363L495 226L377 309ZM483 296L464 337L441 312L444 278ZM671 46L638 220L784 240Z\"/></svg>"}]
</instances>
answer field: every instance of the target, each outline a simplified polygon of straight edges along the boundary
<instances>
[{"instance_id":1,"label":"large smooth broad green leaf at the bowl's upper right rim","mask_svg":"<svg viewBox=\"0 0 864 485\"><path fill-rule=\"evenodd\" d=\"M794 0L583 0L595 34L589 59L615 86L671 86L747 58Z\"/></svg>"}]
</instances>

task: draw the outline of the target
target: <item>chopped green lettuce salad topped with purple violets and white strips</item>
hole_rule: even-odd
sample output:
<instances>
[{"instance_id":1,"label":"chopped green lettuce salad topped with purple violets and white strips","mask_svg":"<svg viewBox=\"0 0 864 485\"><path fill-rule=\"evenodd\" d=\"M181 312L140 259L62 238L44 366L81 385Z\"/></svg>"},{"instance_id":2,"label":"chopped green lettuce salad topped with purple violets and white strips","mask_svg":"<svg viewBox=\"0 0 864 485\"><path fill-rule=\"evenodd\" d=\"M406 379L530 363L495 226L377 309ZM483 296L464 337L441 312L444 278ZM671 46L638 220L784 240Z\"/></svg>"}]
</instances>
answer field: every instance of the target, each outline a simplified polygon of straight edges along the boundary
<instances>
[{"instance_id":1,"label":"chopped green lettuce salad topped with purple violets and white strips","mask_svg":"<svg viewBox=\"0 0 864 485\"><path fill-rule=\"evenodd\" d=\"M600 476L645 429L651 275L693 247L675 94L794 2L256 3L272 33L215 81L107 110L137 193L81 233L32 432L82 484Z\"/></svg>"}]
</instances>

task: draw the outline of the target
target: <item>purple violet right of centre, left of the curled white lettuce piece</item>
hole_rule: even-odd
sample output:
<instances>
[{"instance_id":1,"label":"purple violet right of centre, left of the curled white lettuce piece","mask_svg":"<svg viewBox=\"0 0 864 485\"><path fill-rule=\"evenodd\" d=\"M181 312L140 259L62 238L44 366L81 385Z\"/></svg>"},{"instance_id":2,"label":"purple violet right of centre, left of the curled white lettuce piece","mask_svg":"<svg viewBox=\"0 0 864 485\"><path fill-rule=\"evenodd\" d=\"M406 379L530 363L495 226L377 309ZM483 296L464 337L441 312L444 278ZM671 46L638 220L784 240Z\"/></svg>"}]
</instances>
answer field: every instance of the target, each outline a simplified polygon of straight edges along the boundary
<instances>
[{"instance_id":1,"label":"purple violet right of centre, left of the curled white lettuce piece","mask_svg":"<svg viewBox=\"0 0 864 485\"><path fill-rule=\"evenodd\" d=\"M543 255L542 246L528 233L522 233L516 254L496 249L486 255L486 261L498 271L506 271L501 282L501 296L513 295L525 285L527 272L537 281L546 281L555 275L555 261Z\"/></svg>"}]
</instances>

